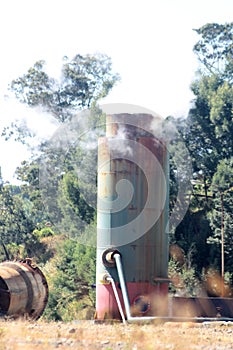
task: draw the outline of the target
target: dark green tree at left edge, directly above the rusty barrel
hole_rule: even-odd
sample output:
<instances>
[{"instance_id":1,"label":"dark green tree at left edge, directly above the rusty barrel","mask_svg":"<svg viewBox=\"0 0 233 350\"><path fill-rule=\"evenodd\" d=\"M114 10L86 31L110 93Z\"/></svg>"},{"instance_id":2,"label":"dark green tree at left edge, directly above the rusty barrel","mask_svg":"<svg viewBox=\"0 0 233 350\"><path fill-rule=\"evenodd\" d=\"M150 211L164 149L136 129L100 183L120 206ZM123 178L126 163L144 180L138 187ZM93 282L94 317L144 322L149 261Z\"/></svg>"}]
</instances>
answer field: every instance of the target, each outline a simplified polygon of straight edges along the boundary
<instances>
[{"instance_id":1,"label":"dark green tree at left edge, directly above the rusty barrel","mask_svg":"<svg viewBox=\"0 0 233 350\"><path fill-rule=\"evenodd\" d=\"M34 257L41 263L52 253L36 234L37 221L32 215L32 203L22 198L19 188L5 185L0 191L0 244L2 259Z\"/></svg>"}]
</instances>

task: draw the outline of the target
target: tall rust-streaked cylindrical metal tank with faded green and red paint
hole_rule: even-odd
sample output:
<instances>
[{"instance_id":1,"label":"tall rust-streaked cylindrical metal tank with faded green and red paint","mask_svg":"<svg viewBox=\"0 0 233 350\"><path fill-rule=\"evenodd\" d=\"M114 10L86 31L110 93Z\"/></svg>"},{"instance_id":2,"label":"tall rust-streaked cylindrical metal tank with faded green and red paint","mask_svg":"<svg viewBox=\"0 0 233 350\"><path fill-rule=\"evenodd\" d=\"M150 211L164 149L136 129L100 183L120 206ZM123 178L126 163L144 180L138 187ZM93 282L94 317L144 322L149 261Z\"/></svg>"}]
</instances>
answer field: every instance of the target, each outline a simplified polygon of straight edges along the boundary
<instances>
[{"instance_id":1,"label":"tall rust-streaked cylindrical metal tank with faded green and red paint","mask_svg":"<svg viewBox=\"0 0 233 350\"><path fill-rule=\"evenodd\" d=\"M96 281L99 318L103 310L107 314L117 312L112 310L116 305L111 288L100 283L99 276L106 272L119 282L116 269L103 265L106 249L121 253L131 302L138 294L167 291L166 285L154 281L158 277L167 278L168 152L161 140L144 130L145 123L152 120L150 115L108 116L107 137L99 140ZM122 181L128 184L124 185L123 193L117 187ZM153 217L153 224L148 224Z\"/></svg>"}]
</instances>

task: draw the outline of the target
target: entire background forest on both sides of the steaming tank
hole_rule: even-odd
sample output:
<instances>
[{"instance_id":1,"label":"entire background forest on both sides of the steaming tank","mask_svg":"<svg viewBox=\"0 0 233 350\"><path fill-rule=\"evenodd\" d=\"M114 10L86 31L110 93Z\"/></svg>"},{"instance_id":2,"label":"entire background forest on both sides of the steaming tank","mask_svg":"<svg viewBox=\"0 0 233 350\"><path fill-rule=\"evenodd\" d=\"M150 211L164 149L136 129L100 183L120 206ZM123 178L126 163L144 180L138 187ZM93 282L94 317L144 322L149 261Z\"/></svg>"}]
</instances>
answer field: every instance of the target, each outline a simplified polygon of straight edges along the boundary
<instances>
[{"instance_id":1,"label":"entire background forest on both sides of the steaming tank","mask_svg":"<svg viewBox=\"0 0 233 350\"><path fill-rule=\"evenodd\" d=\"M224 275L224 295L232 296L233 23L211 23L196 32L194 52L200 68L191 85L192 106L187 118L166 119L176 126L193 168L188 210L170 232L171 291L195 296L205 287L208 295L221 295L216 281ZM47 319L93 317L96 154L85 130L103 133L98 101L118 80L106 55L77 54L64 57L60 80L50 77L45 62L38 61L9 87L20 102L41 108L58 123L55 136L36 149L26 125L16 121L2 132L5 139L31 147L32 156L16 170L20 185L0 181L0 258L29 256L42 267L50 286L43 316ZM81 135L78 140L74 129ZM171 209L182 153L182 145L171 153ZM185 181L185 172L182 176Z\"/></svg>"}]
</instances>

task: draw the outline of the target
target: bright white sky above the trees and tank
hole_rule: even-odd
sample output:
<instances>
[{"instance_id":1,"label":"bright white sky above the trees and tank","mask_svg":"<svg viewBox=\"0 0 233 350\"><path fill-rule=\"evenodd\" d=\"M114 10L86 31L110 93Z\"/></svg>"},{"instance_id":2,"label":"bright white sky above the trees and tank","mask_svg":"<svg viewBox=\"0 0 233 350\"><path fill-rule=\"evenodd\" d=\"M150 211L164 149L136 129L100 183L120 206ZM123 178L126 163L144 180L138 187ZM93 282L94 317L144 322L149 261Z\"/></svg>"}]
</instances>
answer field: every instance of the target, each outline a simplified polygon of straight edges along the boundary
<instances>
[{"instance_id":1,"label":"bright white sky above the trees and tank","mask_svg":"<svg viewBox=\"0 0 233 350\"><path fill-rule=\"evenodd\" d=\"M121 76L103 102L137 104L164 117L185 116L198 67L193 28L231 22L233 13L232 0L8 0L0 6L1 125L30 114L5 103L3 96L7 84L36 60L44 59L56 75L64 55L95 52L109 55ZM17 146L16 152L15 145L3 142L0 147L8 179L24 150Z\"/></svg>"}]
</instances>

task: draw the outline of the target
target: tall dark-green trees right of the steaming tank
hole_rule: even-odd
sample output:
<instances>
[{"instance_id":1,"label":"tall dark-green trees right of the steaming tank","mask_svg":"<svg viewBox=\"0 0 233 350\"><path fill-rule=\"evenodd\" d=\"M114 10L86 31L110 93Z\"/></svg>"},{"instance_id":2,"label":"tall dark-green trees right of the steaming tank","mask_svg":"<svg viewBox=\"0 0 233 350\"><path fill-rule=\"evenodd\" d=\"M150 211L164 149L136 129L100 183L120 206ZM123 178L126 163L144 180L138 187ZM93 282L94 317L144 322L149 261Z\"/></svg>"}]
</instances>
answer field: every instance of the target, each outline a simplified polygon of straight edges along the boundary
<instances>
[{"instance_id":1,"label":"tall dark-green trees right of the steaming tank","mask_svg":"<svg viewBox=\"0 0 233 350\"><path fill-rule=\"evenodd\" d=\"M191 86L195 97L185 120L186 127L180 127L180 124L177 127L192 157L193 178L199 185L195 185L189 211L175 237L185 252L187 242L195 244L193 261L198 262L200 271L206 263L217 269L220 267L221 197L217 191L212 198L211 190L216 186L217 178L218 187L220 182L224 184L224 190L231 186L231 170L227 164L231 166L233 156L233 23L210 23L196 32L201 38L194 46L194 52L201 65ZM230 192L224 195L226 269L229 272L232 271L231 197ZM195 241L197 232L200 236ZM206 243L214 244L207 246Z\"/></svg>"}]
</instances>

